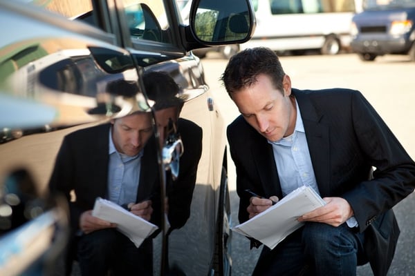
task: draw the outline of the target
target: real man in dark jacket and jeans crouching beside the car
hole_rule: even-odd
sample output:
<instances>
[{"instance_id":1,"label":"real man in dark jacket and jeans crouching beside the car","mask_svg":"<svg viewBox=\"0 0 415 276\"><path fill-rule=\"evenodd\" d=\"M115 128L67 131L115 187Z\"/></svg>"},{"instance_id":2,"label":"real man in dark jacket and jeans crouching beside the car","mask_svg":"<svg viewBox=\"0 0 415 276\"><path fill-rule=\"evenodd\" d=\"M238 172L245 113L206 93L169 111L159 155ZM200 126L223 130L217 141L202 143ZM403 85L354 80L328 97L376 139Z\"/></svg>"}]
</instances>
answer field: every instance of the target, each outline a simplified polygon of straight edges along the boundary
<instances>
[{"instance_id":1,"label":"real man in dark jacket and jeans crouching beside the car","mask_svg":"<svg viewBox=\"0 0 415 276\"><path fill-rule=\"evenodd\" d=\"M374 275L386 275L399 235L391 208L414 191L415 164L376 110L356 90L291 88L268 48L234 55L221 79L241 112L227 131L239 221L299 186L326 201L262 250L254 275L350 276L368 261Z\"/></svg>"}]
</instances>

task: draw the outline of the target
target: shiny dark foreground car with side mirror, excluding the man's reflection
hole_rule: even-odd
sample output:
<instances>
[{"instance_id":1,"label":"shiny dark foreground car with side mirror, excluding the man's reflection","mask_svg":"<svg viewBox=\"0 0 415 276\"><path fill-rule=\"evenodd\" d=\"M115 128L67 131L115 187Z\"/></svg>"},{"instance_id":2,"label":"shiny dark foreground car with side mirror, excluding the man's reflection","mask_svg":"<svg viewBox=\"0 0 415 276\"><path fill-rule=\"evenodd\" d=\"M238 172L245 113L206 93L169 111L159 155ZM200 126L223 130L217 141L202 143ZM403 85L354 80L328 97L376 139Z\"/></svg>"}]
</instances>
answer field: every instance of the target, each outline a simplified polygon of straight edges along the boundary
<instances>
[{"instance_id":1,"label":"shiny dark foreground car with side mirror, excluding the man's reflection","mask_svg":"<svg viewBox=\"0 0 415 276\"><path fill-rule=\"evenodd\" d=\"M62 139L136 110L154 114L157 102L142 81L149 71L178 83L181 117L203 130L190 217L174 230L160 225L154 273L230 275L225 126L191 50L247 41L255 16L248 0L195 0L189 25L178 2L0 1L0 129L7 134L0 144L0 275L57 273L68 206L48 193L48 181ZM245 25L232 28L241 19ZM113 90L114 83L137 89ZM12 130L21 135L10 137ZM172 131L155 153L162 196L180 156L181 133ZM164 137L156 127L154 135Z\"/></svg>"}]
</instances>

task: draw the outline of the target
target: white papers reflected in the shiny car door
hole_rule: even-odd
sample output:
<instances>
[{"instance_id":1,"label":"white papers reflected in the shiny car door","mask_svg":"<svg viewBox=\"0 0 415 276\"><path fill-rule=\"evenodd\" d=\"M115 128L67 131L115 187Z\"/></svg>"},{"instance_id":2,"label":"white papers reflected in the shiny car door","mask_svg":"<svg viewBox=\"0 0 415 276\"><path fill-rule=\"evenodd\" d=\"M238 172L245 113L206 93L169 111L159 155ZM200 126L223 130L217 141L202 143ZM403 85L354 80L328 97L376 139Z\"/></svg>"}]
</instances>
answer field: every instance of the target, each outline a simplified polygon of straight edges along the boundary
<instances>
[{"instance_id":1,"label":"white papers reflected in the shiny car door","mask_svg":"<svg viewBox=\"0 0 415 276\"><path fill-rule=\"evenodd\" d=\"M134 215L118 204L98 197L93 206L92 215L117 224L117 229L139 247L158 227L151 222Z\"/></svg>"}]
</instances>

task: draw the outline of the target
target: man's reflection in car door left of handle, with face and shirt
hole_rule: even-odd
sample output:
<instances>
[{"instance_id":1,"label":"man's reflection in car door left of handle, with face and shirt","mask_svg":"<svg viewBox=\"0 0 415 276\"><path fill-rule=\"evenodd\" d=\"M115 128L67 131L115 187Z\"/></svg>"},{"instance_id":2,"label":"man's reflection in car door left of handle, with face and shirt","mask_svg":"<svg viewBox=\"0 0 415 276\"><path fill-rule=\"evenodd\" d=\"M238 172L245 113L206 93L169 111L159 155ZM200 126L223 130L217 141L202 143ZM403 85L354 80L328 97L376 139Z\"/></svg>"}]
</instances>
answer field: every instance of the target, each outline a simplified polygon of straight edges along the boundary
<instances>
[{"instance_id":1,"label":"man's reflection in car door left of handle, with face and shirt","mask_svg":"<svg viewBox=\"0 0 415 276\"><path fill-rule=\"evenodd\" d=\"M135 112L64 138L50 190L63 193L68 201L71 191L75 193L69 202L67 273L71 270L71 250L76 250L82 275L107 275L109 270L114 275L152 275L151 239L136 248L111 221L93 217L92 208L95 199L102 197L158 224L155 143L149 112Z\"/></svg>"}]
</instances>

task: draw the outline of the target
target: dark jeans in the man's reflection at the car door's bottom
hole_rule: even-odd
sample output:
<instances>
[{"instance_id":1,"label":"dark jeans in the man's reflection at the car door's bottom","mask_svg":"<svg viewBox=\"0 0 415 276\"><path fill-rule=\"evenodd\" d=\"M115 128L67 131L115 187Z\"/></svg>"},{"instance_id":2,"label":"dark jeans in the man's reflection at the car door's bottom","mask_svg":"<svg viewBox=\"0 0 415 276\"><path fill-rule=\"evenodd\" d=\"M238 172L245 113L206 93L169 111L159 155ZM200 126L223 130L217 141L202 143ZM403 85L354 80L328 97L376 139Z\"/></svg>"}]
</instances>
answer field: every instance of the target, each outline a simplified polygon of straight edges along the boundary
<instances>
[{"instance_id":1,"label":"dark jeans in the man's reflection at the car door's bottom","mask_svg":"<svg viewBox=\"0 0 415 276\"><path fill-rule=\"evenodd\" d=\"M139 248L116 229L97 230L77 242L77 259L82 276L152 275L151 239Z\"/></svg>"}]
</instances>

